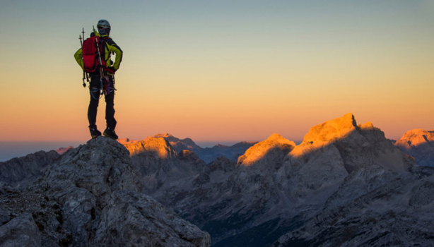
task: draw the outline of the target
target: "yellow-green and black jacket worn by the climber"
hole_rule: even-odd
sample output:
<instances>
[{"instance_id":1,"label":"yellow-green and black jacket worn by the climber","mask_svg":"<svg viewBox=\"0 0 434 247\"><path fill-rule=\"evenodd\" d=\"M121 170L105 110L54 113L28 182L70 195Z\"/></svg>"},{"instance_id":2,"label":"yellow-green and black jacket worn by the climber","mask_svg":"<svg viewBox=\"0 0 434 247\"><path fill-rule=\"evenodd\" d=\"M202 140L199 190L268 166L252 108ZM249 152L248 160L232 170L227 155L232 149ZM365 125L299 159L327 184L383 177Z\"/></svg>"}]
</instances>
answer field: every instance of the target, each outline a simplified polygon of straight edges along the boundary
<instances>
[{"instance_id":1,"label":"yellow-green and black jacket worn by the climber","mask_svg":"<svg viewBox=\"0 0 434 247\"><path fill-rule=\"evenodd\" d=\"M95 35L98 37L101 37L101 35L95 31ZM104 38L103 42L103 49L102 49L102 58L105 59L105 64L107 67L113 67L115 68L115 71L119 69L119 66L121 65L122 61L122 49L117 46L117 44L112 40L111 37L108 37L108 35L103 35ZM115 62L112 64L112 60L110 60L110 55L114 52L116 54ZM83 51L78 49L78 51L74 54L74 58L77 61L77 64L81 67L81 69L84 70L84 64L83 64Z\"/></svg>"}]
</instances>

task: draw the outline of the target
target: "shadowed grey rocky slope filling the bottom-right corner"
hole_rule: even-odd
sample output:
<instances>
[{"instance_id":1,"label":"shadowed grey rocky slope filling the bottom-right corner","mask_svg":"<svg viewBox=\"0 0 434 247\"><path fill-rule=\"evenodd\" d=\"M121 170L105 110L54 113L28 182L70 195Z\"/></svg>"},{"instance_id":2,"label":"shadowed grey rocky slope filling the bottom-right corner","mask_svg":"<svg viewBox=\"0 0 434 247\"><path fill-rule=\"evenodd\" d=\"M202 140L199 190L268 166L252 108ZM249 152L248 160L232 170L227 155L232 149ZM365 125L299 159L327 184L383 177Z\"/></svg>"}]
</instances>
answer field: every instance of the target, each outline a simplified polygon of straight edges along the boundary
<instances>
[{"instance_id":1,"label":"shadowed grey rocky slope filling the bottom-right corner","mask_svg":"<svg viewBox=\"0 0 434 247\"><path fill-rule=\"evenodd\" d=\"M397 178L346 205L326 207L273 246L431 246L433 172Z\"/></svg>"}]
</instances>

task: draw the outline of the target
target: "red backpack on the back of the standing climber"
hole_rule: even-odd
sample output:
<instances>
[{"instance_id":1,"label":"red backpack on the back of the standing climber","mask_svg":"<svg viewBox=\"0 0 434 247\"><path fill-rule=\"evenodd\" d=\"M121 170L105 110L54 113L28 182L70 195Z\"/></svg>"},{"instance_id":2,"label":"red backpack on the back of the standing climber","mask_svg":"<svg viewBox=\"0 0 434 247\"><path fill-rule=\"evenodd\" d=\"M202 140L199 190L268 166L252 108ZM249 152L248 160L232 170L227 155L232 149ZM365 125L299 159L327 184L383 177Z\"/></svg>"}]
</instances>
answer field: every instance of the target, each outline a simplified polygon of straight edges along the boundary
<instances>
[{"instance_id":1,"label":"red backpack on the back of the standing climber","mask_svg":"<svg viewBox=\"0 0 434 247\"><path fill-rule=\"evenodd\" d=\"M105 59L100 58L104 54L103 42L104 40L98 36L89 37L83 42L83 64L86 72L95 72L100 66L106 68ZM100 49L99 54L97 47Z\"/></svg>"}]
</instances>

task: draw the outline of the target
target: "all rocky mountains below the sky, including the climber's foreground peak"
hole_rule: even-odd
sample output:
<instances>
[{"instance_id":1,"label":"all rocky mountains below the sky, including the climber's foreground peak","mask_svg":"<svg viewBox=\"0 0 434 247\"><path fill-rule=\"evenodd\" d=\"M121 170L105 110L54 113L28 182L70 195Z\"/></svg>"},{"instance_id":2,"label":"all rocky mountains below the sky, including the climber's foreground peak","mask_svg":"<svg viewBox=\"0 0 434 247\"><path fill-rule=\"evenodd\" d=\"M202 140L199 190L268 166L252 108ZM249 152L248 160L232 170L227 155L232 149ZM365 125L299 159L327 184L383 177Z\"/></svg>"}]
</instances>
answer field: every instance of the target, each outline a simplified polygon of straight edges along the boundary
<instances>
[{"instance_id":1,"label":"all rocky mountains below the sky, including the climber's foreground peak","mask_svg":"<svg viewBox=\"0 0 434 247\"><path fill-rule=\"evenodd\" d=\"M0 162L0 243L430 246L433 141L423 130L388 140L352 114L299 145L277 133L214 150L169 134L100 137Z\"/></svg>"}]
</instances>

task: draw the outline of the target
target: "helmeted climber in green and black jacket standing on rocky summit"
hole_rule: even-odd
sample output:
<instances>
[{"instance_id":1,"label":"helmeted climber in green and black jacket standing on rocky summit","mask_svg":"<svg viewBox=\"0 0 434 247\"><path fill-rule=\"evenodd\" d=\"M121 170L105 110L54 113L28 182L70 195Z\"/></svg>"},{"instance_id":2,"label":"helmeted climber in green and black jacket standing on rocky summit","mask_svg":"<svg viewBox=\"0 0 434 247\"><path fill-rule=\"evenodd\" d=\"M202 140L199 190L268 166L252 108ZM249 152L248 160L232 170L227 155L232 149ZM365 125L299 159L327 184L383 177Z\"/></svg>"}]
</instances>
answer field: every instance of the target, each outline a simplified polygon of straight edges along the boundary
<instances>
[{"instance_id":1,"label":"helmeted climber in green and black jacket standing on rocky summit","mask_svg":"<svg viewBox=\"0 0 434 247\"><path fill-rule=\"evenodd\" d=\"M95 37L93 42L97 49L94 50L94 57L98 56L100 58L99 64L95 68L89 69L89 61L98 61L97 59L88 59L88 51L86 49L85 42L83 42L82 47L74 54L74 58L83 71L86 71L90 77L90 102L88 107L88 121L89 121L89 131L92 138L97 138L101 135L96 126L96 116L98 112L98 104L100 101L100 93L104 91L105 95L105 119L107 122L107 128L103 132L103 135L117 140L117 135L115 133L116 119L115 119L115 71L119 69L122 61L122 49L109 37L111 26L107 20L98 21L98 32L94 31L91 37L98 37L95 42ZM83 31L84 36L84 31ZM83 37L84 38L84 37ZM88 39L89 40L89 39ZM83 48L85 47L85 48ZM83 55L83 50L84 55ZM98 54L97 54L98 53ZM115 62L110 59L111 54L116 54ZM84 76L83 76L83 85Z\"/></svg>"}]
</instances>

